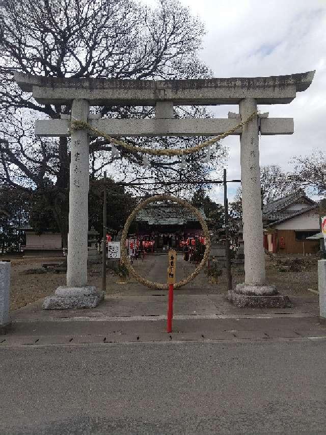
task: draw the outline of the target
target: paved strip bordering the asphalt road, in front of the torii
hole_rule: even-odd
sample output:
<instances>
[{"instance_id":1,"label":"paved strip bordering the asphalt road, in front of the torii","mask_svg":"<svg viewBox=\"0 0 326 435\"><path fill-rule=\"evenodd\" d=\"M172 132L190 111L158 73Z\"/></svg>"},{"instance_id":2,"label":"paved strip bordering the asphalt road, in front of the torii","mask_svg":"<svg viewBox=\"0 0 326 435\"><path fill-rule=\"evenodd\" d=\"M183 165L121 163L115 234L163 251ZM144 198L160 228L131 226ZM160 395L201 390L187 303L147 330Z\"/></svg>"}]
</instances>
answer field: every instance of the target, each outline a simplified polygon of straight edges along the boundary
<instances>
[{"instance_id":1,"label":"paved strip bordering the asphalt road, in front of the torii","mask_svg":"<svg viewBox=\"0 0 326 435\"><path fill-rule=\"evenodd\" d=\"M171 338L170 338L171 336ZM175 320L167 334L160 321L20 322L0 345L100 344L150 341L267 340L326 337L326 322L315 317Z\"/></svg>"}]
</instances>

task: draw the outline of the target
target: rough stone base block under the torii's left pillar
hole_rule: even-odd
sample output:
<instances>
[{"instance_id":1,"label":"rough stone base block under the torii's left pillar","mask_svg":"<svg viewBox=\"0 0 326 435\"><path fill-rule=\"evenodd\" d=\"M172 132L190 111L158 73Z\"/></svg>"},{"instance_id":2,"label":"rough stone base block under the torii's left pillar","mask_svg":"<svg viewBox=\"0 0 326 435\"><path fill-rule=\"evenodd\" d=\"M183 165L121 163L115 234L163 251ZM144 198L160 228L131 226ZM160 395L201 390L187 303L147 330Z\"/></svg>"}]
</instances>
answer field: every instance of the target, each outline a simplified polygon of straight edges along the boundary
<instances>
[{"instance_id":1,"label":"rough stone base block under the torii's left pillar","mask_svg":"<svg viewBox=\"0 0 326 435\"><path fill-rule=\"evenodd\" d=\"M95 308L104 299L104 292L96 287L58 287L55 294L47 296L43 310L83 310Z\"/></svg>"}]
</instances>

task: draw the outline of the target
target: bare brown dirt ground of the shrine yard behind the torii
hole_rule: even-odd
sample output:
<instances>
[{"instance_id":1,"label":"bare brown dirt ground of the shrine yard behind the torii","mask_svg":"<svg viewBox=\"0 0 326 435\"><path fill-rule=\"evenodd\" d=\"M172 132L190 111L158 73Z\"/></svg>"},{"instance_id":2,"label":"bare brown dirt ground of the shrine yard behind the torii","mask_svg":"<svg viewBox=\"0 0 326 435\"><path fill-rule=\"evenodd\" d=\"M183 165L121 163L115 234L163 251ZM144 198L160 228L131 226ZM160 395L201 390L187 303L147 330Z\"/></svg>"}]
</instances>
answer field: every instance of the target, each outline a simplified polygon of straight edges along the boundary
<instances>
[{"instance_id":1,"label":"bare brown dirt ground of the shrine yard behind the torii","mask_svg":"<svg viewBox=\"0 0 326 435\"><path fill-rule=\"evenodd\" d=\"M6 258L8 260L8 258ZM66 274L63 272L46 272L42 265L46 263L58 263L58 258L12 258L11 260L11 288L10 310L16 310L37 299L53 293L58 286L66 284ZM148 255L145 262L134 261L134 268L139 274L156 282L165 282L166 256ZM31 269L38 269L39 273L31 273ZM182 255L178 255L177 280L187 276L195 269L195 265L185 262ZM317 259L307 257L304 259L301 270L291 272L280 271L280 265L266 257L266 280L277 285L282 294L311 297L308 288L318 290ZM43 272L43 273L40 273ZM101 265L95 264L89 267L89 284L101 288ZM232 268L233 287L244 280L244 271L241 268ZM135 279L129 278L127 284L119 284L118 276L111 270L107 270L106 294L133 294L145 295L150 290ZM209 284L204 272L193 283L182 287L179 292L184 294L210 294L226 291L226 274L223 270L218 284ZM155 292L155 291L154 291Z\"/></svg>"}]
</instances>

